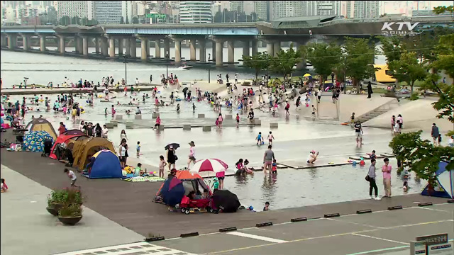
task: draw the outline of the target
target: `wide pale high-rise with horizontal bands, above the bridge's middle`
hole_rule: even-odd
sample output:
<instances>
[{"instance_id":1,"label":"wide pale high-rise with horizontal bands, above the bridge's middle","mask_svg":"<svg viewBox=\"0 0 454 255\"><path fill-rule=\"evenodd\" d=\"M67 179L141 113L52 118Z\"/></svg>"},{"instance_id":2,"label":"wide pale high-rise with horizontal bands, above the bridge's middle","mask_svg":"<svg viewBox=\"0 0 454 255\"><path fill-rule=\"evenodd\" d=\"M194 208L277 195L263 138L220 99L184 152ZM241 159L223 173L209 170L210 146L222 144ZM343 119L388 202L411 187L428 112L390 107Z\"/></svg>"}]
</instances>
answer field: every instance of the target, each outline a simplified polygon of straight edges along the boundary
<instances>
[{"instance_id":1,"label":"wide pale high-rise with horizontal bands, above the bridge's middle","mask_svg":"<svg viewBox=\"0 0 454 255\"><path fill-rule=\"evenodd\" d=\"M211 1L180 1L180 23L211 23Z\"/></svg>"}]
</instances>

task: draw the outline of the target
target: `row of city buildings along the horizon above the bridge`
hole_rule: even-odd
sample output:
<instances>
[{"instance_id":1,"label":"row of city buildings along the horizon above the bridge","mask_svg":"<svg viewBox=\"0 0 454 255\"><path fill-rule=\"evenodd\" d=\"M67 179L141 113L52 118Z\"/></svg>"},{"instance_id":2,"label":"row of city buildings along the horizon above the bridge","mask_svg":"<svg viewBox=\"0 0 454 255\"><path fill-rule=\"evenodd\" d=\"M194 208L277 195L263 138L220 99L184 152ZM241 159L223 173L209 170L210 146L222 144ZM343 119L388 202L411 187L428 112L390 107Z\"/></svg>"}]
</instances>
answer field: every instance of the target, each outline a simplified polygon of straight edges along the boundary
<instances>
[{"instance_id":1,"label":"row of city buildings along the horizon above the bridge","mask_svg":"<svg viewBox=\"0 0 454 255\"><path fill-rule=\"evenodd\" d=\"M270 22L277 18L305 16L431 15L434 7L450 4L453 1L1 1L1 20L3 24L38 25L43 22L39 17L51 14L44 19L46 23L60 21L63 16L87 18L102 24L211 23L219 22L214 21L217 12L227 10L235 17L223 18L222 22L238 22L240 13L255 13L256 21ZM165 16L152 18L152 14ZM244 21L243 18L240 22Z\"/></svg>"}]
</instances>

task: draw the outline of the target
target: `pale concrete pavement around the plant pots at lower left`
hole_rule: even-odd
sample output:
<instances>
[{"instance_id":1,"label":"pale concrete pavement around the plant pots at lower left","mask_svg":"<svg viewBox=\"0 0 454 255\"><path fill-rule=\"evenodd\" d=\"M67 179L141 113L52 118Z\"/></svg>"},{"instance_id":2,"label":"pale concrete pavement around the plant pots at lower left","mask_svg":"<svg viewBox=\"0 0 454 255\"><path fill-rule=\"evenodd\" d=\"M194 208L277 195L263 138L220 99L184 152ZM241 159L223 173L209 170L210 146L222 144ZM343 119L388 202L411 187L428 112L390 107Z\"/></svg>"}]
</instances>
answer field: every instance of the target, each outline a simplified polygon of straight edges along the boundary
<instances>
[{"instance_id":1,"label":"pale concrete pavement around the plant pots at lower left","mask_svg":"<svg viewBox=\"0 0 454 255\"><path fill-rule=\"evenodd\" d=\"M62 171L59 174L64 175ZM89 208L84 208L77 226L64 226L45 210L50 188L3 164L1 178L9 186L9 191L1 193L1 254L55 254L143 239Z\"/></svg>"}]
</instances>

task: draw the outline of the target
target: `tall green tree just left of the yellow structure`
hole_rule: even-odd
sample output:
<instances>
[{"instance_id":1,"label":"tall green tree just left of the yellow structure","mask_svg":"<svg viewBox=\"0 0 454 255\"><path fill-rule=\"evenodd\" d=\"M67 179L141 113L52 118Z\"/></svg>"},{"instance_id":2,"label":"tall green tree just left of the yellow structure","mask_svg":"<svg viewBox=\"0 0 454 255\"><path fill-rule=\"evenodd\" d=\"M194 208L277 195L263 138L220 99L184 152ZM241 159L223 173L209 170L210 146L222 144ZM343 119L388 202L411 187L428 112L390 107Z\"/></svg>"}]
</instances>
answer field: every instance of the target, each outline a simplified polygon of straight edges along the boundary
<instances>
[{"instance_id":1,"label":"tall green tree just left of the yellow structure","mask_svg":"<svg viewBox=\"0 0 454 255\"><path fill-rule=\"evenodd\" d=\"M376 69L370 64L370 57L377 54L377 50L369 45L369 39L345 38L343 53L345 55L345 74L352 78L353 86L359 92L360 81L375 74Z\"/></svg>"}]
</instances>

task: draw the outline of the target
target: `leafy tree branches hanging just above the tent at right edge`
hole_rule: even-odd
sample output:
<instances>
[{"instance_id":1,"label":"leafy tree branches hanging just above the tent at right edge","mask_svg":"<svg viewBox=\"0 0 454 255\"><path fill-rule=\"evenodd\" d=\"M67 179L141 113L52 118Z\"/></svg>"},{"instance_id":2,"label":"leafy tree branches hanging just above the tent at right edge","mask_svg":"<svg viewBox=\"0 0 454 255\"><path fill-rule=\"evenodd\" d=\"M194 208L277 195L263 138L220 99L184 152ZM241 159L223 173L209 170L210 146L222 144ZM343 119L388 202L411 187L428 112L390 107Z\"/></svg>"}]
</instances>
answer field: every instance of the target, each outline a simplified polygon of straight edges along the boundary
<instances>
[{"instance_id":1,"label":"leafy tree branches hanging just above the tent at right edge","mask_svg":"<svg viewBox=\"0 0 454 255\"><path fill-rule=\"evenodd\" d=\"M448 162L446 169L454 169L454 148L433 146L429 140L421 139L421 132L409 132L395 136L389 147L401 160L402 166L408 166L419 178L436 186L436 171L442 160Z\"/></svg>"}]
</instances>

